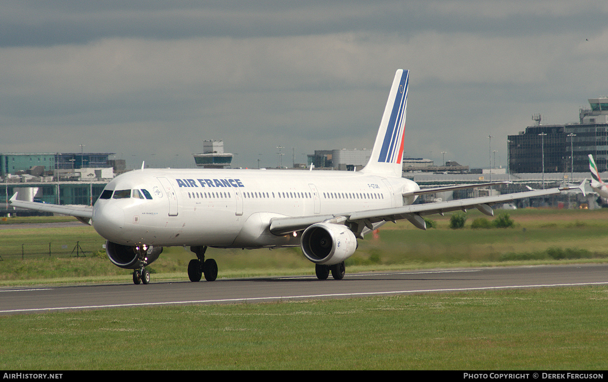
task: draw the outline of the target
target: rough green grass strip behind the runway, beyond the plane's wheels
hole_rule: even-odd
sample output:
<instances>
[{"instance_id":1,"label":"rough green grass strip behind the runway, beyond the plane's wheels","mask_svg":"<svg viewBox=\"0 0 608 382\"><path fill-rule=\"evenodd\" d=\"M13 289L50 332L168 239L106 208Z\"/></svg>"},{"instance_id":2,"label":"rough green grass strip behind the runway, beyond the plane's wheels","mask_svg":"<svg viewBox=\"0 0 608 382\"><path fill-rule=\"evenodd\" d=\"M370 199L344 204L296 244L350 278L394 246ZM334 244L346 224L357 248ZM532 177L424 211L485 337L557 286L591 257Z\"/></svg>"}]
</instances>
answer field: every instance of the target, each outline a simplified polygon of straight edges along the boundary
<instances>
[{"instance_id":1,"label":"rough green grass strip behind the runway, beyond the plane's wheels","mask_svg":"<svg viewBox=\"0 0 608 382\"><path fill-rule=\"evenodd\" d=\"M450 215L433 215L430 218L437 228L426 231L407 221L387 223L377 237L369 234L359 240L358 250L347 260L347 272L608 261L608 209L522 209L508 214L515 224L502 229L471 229L472 221L487 218L476 210L467 214L463 229L449 228ZM77 242L86 257L74 257ZM85 224L0 229L0 256L4 260L0 262L0 285L83 278L130 280L131 271L106 259L103 243L105 240ZM299 248L210 248L207 257L218 262L218 277L314 274L314 266ZM165 248L149 267L153 279L187 279L187 264L193 258L188 248Z\"/></svg>"}]
</instances>

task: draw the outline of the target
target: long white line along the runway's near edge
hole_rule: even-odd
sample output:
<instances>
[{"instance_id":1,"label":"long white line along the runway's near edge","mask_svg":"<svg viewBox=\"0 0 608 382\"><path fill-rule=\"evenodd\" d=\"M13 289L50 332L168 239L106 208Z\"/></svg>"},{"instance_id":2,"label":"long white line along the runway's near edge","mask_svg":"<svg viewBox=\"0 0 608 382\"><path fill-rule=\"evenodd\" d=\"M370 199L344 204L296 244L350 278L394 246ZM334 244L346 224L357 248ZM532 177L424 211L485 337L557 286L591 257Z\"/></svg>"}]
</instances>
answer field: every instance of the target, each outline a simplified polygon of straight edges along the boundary
<instances>
[{"instance_id":1,"label":"long white line along the runway's near edge","mask_svg":"<svg viewBox=\"0 0 608 382\"><path fill-rule=\"evenodd\" d=\"M15 309L15 310L0 310L0 313L19 313L19 312L36 312L36 311L55 311L55 310L70 310L70 309L95 309L95 308L121 308L121 307L145 307L155 305L178 305L178 304L210 304L220 302L252 302L265 300L291 300L291 299L310 299L320 297L363 297L376 296L385 294L410 294L423 292L458 292L458 291L476 291L476 290L497 290L497 289L515 289L515 288L538 288L547 286L582 286L582 285L608 285L608 282L582 282L569 284L541 284L541 285L512 285L512 286L482 286L478 288L446 288L446 289L424 289L424 290L406 290L406 291L387 291L387 292L359 292L359 293L333 293L333 294L306 294L302 296L275 296L275 297L244 297L238 299L218 299L218 300L190 300L190 301L170 301L170 302L140 302L137 304L111 304L111 305L84 305L80 307L56 307L56 308L31 308L31 309Z\"/></svg>"}]
</instances>

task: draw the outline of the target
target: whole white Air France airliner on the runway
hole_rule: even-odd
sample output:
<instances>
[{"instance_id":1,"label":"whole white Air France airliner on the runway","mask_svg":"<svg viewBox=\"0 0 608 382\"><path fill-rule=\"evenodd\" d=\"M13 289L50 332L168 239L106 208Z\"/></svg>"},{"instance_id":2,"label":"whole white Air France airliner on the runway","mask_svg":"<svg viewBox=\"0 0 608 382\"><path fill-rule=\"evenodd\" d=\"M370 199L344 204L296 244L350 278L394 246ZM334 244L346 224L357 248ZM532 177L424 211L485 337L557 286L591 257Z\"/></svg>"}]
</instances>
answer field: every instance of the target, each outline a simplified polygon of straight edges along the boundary
<instances>
[{"instance_id":1,"label":"whole white Air France airliner on the runway","mask_svg":"<svg viewBox=\"0 0 608 382\"><path fill-rule=\"evenodd\" d=\"M134 170L108 183L91 208L11 198L12 206L72 215L92 224L114 265L134 269L133 282L150 282L145 268L164 246L189 246L193 282L213 281L218 266L207 248L300 246L320 280L345 275L358 239L388 221L407 219L426 229L423 216L491 206L562 189L412 205L424 193L495 183L421 190L402 178L409 71L395 74L371 157L360 171L161 169ZM142 166L143 167L143 166Z\"/></svg>"}]
</instances>

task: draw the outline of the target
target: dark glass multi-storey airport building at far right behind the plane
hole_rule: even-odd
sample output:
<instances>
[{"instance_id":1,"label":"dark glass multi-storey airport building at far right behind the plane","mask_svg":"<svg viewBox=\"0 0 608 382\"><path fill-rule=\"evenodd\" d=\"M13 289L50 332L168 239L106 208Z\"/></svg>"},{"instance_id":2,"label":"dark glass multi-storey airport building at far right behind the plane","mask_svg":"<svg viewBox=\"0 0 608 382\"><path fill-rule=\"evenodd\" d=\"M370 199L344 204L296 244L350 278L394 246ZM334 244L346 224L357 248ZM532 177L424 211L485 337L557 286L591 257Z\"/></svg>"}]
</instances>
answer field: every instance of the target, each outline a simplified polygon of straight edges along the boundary
<instances>
[{"instance_id":1,"label":"dark glass multi-storey airport building at far right behind the plane","mask_svg":"<svg viewBox=\"0 0 608 382\"><path fill-rule=\"evenodd\" d=\"M508 136L510 173L588 172L589 154L600 172L608 170L608 97L589 105L579 110L578 123L543 125L536 115L534 126Z\"/></svg>"}]
</instances>

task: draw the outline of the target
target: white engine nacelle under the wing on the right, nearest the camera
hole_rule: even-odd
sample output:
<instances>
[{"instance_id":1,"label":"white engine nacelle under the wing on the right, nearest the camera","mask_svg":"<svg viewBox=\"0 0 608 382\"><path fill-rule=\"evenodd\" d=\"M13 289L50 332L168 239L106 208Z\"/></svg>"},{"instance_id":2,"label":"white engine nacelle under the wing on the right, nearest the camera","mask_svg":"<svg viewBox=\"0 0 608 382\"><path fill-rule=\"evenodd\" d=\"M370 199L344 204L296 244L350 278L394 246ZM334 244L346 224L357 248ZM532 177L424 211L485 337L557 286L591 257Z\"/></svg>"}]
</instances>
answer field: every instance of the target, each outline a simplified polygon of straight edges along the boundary
<instances>
[{"instance_id":1,"label":"white engine nacelle under the wing on the right, nearest the camera","mask_svg":"<svg viewBox=\"0 0 608 382\"><path fill-rule=\"evenodd\" d=\"M301 238L302 252L315 264L334 265L351 257L357 239L348 227L333 223L317 223L305 229Z\"/></svg>"}]
</instances>

